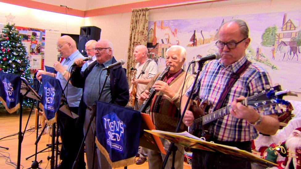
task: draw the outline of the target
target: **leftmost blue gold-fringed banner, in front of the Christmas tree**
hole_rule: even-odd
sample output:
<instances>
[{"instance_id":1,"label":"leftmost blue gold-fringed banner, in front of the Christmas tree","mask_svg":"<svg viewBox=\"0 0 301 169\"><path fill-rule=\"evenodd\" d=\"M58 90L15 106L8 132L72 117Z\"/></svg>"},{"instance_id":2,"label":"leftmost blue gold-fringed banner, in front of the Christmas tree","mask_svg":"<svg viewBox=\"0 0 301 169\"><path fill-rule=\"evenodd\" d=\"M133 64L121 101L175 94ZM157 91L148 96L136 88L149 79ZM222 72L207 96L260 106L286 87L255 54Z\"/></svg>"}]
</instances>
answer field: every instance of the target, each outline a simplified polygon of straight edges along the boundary
<instances>
[{"instance_id":1,"label":"leftmost blue gold-fringed banner, in front of the Christmas tree","mask_svg":"<svg viewBox=\"0 0 301 169\"><path fill-rule=\"evenodd\" d=\"M0 101L6 111L13 113L20 108L21 78L15 74L0 72Z\"/></svg>"}]
</instances>

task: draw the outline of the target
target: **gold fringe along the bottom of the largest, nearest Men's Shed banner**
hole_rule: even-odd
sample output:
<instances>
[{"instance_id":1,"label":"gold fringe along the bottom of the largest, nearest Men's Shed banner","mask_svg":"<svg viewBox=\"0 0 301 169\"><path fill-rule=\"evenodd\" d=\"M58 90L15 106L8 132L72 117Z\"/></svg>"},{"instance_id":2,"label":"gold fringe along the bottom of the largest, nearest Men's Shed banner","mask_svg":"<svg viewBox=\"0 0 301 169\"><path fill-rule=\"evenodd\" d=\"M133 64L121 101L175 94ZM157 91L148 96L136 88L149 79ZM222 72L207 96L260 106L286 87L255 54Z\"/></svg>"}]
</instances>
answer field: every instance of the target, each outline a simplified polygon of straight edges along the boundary
<instances>
[{"instance_id":1,"label":"gold fringe along the bottom of the largest, nearest Men's Shed banner","mask_svg":"<svg viewBox=\"0 0 301 169\"><path fill-rule=\"evenodd\" d=\"M125 167L125 166L129 166L129 165L135 164L135 158L136 158L136 156L130 157L128 159L124 159L124 160L112 162L111 159L110 159L109 153L107 152L107 150L105 149L105 147L103 147L98 142L97 137L95 137L95 143L96 143L98 149L100 150L100 152L105 156L105 158L107 159L107 161L109 162L109 164L111 165L112 168Z\"/></svg>"}]
</instances>

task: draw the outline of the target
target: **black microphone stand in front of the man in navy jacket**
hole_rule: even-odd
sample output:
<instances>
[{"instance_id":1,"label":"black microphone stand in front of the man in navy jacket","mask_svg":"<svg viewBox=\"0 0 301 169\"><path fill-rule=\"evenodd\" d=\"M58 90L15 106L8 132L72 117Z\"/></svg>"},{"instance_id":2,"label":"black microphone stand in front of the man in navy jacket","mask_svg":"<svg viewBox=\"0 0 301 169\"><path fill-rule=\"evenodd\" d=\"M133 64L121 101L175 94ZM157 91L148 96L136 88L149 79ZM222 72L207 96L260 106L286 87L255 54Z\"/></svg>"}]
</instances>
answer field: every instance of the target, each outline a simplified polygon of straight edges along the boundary
<instances>
[{"instance_id":1,"label":"black microphone stand in front of the man in navy jacket","mask_svg":"<svg viewBox=\"0 0 301 169\"><path fill-rule=\"evenodd\" d=\"M109 75L110 75L110 71L111 71L111 68L107 69L107 74L105 75L105 82L107 81L107 79L108 79L108 77L109 77ZM102 84L101 91L100 91L100 93L99 93L99 95L98 95L97 101L100 100L100 97L101 97L101 95L102 95L102 91L103 91L103 89L104 89L104 87L105 87L105 82ZM93 112L92 112L92 115L90 116L90 121L89 121L87 130L86 130L86 132L85 132L86 134L85 134L85 136L84 136L83 141L81 142L80 150L78 151L78 154L77 154L76 159L75 159L75 161L74 161L74 163L73 163L72 169L76 169L76 167L77 167L77 163L78 163L78 160L79 160L79 158L80 158L80 153L83 151L83 148L84 148L84 145L85 145L85 140L86 140L86 138L87 138L87 134L88 134L88 131L89 131L89 129L90 129L90 126L91 126L91 123L92 123L94 117L96 117L96 104L95 104L95 103L93 103ZM93 148L93 161L92 161L92 168L93 168L93 169L94 169L94 163L95 163L94 160L95 160L95 152L96 152L95 135L96 135L96 130L94 131L94 134L93 134L93 138L94 138L94 139L93 139L93 140L94 140L94 141L93 141L93 145L94 145L94 148Z\"/></svg>"}]
</instances>

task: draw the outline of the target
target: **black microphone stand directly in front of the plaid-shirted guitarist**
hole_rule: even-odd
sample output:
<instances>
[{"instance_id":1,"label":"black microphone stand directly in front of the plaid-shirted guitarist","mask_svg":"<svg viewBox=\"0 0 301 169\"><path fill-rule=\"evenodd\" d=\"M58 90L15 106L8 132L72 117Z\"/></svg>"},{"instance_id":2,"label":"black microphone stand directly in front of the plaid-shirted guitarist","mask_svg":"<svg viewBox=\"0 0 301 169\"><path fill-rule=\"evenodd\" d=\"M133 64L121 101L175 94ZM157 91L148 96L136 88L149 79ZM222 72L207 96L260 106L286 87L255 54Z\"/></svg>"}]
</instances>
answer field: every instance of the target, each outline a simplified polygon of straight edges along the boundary
<instances>
[{"instance_id":1,"label":"black microphone stand directly in front of the plaid-shirted guitarist","mask_svg":"<svg viewBox=\"0 0 301 169\"><path fill-rule=\"evenodd\" d=\"M189 64L189 66L190 66L190 65L191 65L191 63ZM194 80L194 82L193 82L193 84L192 84L192 90L193 90L194 87L196 86L196 82L197 82L197 79L198 79L198 77L199 77L199 75L200 75L200 72L202 71L203 65L204 65L204 62L199 62L199 68L198 68L198 71L197 71L197 73L196 73L196 78L195 78L195 80ZM188 67L189 67L189 66L188 66ZM185 83L185 82L184 82L184 83ZM182 96L181 96L181 97L182 97ZM180 118L180 120L179 120L179 123L177 124L177 127L176 127L176 129L175 129L175 133L179 132L180 126L181 126L181 124L182 124L182 120L183 120L184 115L185 115L185 111L186 111L186 109L187 109L187 107L188 107L188 103L189 103L189 100L191 99L191 97L192 97L192 92L190 92L190 94L189 94L189 96L188 96L188 100L187 100L187 102L186 102L186 104L185 104L185 107L184 107L184 109L183 109L183 113L182 113L182 115L181 115L181 118ZM180 103L180 104L181 104L181 103ZM162 165L162 168L161 168L161 169L164 169L164 168L165 168L165 166L166 166L166 164L167 164L167 160L168 160L168 158L169 158L171 152L172 152L172 166L171 166L171 169L174 169L174 168L175 168L175 153L176 153L177 150L178 150L178 147L175 146L175 143L171 143L171 144L169 145L169 148L168 148L168 151L166 152L166 156L165 156L165 159L164 159L164 161L163 161L163 165Z\"/></svg>"}]
</instances>

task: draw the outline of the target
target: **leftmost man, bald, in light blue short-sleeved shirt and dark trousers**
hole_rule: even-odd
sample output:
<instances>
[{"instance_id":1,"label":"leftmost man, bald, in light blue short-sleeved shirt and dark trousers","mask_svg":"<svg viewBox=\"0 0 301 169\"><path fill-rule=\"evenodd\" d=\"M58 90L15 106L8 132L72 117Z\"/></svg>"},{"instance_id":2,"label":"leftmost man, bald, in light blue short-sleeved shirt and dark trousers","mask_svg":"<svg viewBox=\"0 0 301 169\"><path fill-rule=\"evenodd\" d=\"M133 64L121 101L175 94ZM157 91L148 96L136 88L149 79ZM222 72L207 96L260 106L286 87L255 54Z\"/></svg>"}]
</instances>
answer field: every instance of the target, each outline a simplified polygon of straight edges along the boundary
<instances>
[{"instance_id":1,"label":"leftmost man, bald, in light blue short-sleeved shirt and dark trousers","mask_svg":"<svg viewBox=\"0 0 301 169\"><path fill-rule=\"evenodd\" d=\"M46 74L57 78L61 86L64 87L67 83L68 77L70 77L71 65L77 58L85 58L76 49L75 41L68 35L64 35L57 40L57 51L60 52L64 60L60 63L55 61L53 66L58 72L57 74L39 70L36 77L40 80L41 74ZM87 66L83 66L82 70L85 70ZM71 83L68 84L64 91L70 110L74 113L78 113L78 106L80 103L80 97L82 95L82 89L74 87ZM76 126L76 119L65 115L64 113L59 114L58 126L60 128L60 136L62 139L62 148L60 151L60 168L72 168L72 164L76 158L77 152L80 147L80 143L84 137L83 129L80 126ZM85 168L84 154L82 154L79 160L78 167Z\"/></svg>"}]
</instances>

